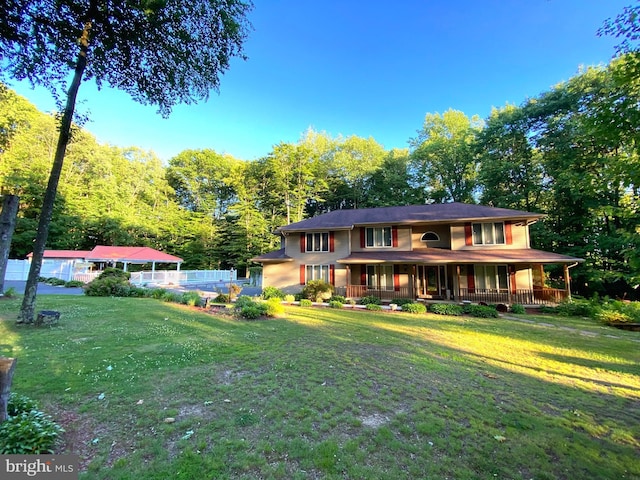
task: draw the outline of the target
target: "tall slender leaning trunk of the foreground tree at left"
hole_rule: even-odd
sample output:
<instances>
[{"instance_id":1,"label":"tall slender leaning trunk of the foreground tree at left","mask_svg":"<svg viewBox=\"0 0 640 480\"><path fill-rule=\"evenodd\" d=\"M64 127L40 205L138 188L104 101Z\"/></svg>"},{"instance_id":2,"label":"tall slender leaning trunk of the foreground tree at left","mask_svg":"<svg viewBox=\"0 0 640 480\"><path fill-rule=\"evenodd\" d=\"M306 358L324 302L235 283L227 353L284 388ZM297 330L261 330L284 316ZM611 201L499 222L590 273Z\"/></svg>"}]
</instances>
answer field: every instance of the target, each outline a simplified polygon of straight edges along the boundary
<instances>
[{"instance_id":1,"label":"tall slender leaning trunk of the foreground tree at left","mask_svg":"<svg viewBox=\"0 0 640 480\"><path fill-rule=\"evenodd\" d=\"M58 134L56 154L53 159L53 166L51 167L47 190L44 194L44 200L42 201L42 211L40 212L40 219L38 221L38 232L33 246L33 257L31 258L31 267L29 268L29 276L27 277L27 285L24 290L24 297L22 299L22 307L18 316L18 323L33 323L34 321L38 277L40 277L42 257L44 256L47 237L49 236L49 224L51 223L51 217L53 216L53 204L56 199L56 192L58 190L58 182L60 181L60 174L62 172L64 155L67 150L67 144L69 143L71 122L73 120L73 112L76 106L76 97L78 95L78 89L80 88L80 82L82 81L82 74L87 66L90 28L91 23L87 22L82 33L82 38L80 39L80 53L78 53L73 81L71 82L69 91L67 92L67 104L65 106L64 113L62 114L62 120L60 121L60 133Z\"/></svg>"}]
</instances>

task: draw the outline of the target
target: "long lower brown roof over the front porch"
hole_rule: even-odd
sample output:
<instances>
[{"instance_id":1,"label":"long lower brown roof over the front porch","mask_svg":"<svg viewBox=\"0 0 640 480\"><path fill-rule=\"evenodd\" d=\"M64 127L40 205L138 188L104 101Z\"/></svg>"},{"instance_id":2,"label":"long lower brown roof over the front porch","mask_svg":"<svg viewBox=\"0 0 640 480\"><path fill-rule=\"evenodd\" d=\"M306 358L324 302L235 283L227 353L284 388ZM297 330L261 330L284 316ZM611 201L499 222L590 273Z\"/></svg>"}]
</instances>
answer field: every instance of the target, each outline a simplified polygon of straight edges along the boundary
<instances>
[{"instance_id":1,"label":"long lower brown roof over the front porch","mask_svg":"<svg viewBox=\"0 0 640 480\"><path fill-rule=\"evenodd\" d=\"M364 263L421 263L442 265L447 263L575 263L581 258L544 252L532 248L445 250L425 248L410 252L354 252L337 260L344 264Z\"/></svg>"}]
</instances>

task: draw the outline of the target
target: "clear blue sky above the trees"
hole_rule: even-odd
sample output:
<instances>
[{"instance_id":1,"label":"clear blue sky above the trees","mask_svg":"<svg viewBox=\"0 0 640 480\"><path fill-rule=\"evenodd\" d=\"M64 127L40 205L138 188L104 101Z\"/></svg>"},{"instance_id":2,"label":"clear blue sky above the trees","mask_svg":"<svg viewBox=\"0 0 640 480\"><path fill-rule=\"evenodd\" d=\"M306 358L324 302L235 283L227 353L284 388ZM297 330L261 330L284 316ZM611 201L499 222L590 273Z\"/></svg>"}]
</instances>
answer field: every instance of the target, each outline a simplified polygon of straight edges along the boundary
<instances>
[{"instance_id":1,"label":"clear blue sky above the trees","mask_svg":"<svg viewBox=\"0 0 640 480\"><path fill-rule=\"evenodd\" d=\"M297 142L309 127L405 148L427 113L486 118L606 64L602 22L632 0L254 0L247 61L234 60L220 94L168 119L127 94L85 82L78 111L100 142L168 160L211 148L252 160ZM44 111L50 95L11 84Z\"/></svg>"}]
</instances>

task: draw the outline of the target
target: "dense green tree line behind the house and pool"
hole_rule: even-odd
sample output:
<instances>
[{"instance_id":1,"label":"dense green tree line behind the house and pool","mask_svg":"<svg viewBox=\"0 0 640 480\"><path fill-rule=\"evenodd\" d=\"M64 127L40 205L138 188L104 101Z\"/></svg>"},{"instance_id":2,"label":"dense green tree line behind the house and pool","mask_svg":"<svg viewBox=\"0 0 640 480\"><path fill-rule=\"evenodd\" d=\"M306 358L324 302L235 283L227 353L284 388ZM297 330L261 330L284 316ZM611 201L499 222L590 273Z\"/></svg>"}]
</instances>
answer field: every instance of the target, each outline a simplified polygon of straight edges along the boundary
<instances>
[{"instance_id":1,"label":"dense green tree line behind the house and pool","mask_svg":"<svg viewBox=\"0 0 640 480\"><path fill-rule=\"evenodd\" d=\"M430 113L406 149L308 130L243 161L99 143L74 126L47 247L145 245L185 269L245 269L278 226L336 209L471 202L546 214L532 247L585 258L574 286L634 297L640 284L640 57L631 52L495 108ZM0 90L0 192L20 197L12 258L33 249L57 123ZM549 271L550 281L559 272Z\"/></svg>"}]
</instances>

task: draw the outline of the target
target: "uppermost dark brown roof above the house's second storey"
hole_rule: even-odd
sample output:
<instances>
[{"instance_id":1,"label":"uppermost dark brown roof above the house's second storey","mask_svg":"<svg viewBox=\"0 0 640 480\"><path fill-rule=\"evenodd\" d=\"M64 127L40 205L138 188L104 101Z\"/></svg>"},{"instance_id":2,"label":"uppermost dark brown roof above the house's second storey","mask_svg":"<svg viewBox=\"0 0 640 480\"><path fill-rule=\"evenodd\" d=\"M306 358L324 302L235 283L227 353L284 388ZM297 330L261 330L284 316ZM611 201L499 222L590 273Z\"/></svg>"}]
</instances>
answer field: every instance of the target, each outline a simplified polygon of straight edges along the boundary
<instances>
[{"instance_id":1,"label":"uppermost dark brown roof above the house's second storey","mask_svg":"<svg viewBox=\"0 0 640 480\"><path fill-rule=\"evenodd\" d=\"M360 225L415 224L438 222L464 222L473 220L537 220L540 213L523 212L508 208L470 205L466 203L432 203L400 207L359 208L334 210L278 228L280 232L310 230L348 230Z\"/></svg>"}]
</instances>

